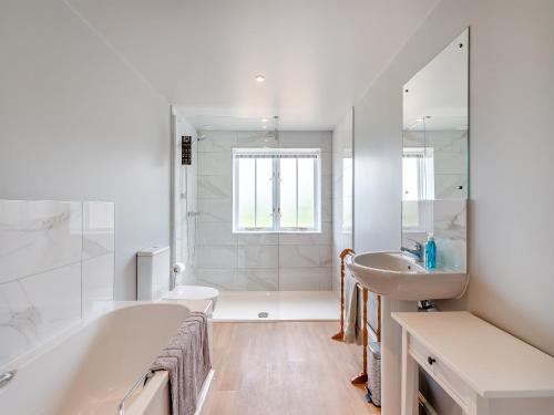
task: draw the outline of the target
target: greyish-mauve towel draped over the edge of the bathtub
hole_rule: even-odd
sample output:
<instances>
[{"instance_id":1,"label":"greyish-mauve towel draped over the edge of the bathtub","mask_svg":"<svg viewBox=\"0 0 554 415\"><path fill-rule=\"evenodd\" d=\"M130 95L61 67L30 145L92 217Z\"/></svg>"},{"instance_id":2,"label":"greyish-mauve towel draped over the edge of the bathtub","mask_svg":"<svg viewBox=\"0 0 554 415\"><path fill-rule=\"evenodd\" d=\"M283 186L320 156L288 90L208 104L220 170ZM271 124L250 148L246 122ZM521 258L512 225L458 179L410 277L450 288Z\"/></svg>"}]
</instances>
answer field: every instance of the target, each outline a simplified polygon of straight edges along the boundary
<instances>
[{"instance_id":1,"label":"greyish-mauve towel draped over the edge of the bathtub","mask_svg":"<svg viewBox=\"0 0 554 415\"><path fill-rule=\"evenodd\" d=\"M170 374L172 415L194 415L211 369L207 318L192 312L151 367Z\"/></svg>"}]
</instances>

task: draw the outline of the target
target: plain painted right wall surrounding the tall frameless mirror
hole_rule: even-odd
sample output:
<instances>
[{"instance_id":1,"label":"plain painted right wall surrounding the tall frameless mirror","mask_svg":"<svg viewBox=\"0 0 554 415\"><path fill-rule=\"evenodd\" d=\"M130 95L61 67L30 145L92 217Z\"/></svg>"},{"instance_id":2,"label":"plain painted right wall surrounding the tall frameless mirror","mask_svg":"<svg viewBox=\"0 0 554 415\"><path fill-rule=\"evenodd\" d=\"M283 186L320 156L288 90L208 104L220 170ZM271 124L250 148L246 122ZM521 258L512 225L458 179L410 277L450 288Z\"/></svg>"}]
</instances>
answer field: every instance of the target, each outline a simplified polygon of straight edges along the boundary
<instances>
[{"instance_id":1,"label":"plain painted right wall surrounding the tall frameless mirror","mask_svg":"<svg viewBox=\"0 0 554 415\"><path fill-rule=\"evenodd\" d=\"M355 247L399 248L401 87L468 25L471 283L445 307L466 301L554 355L552 0L444 0L370 86L355 110Z\"/></svg>"}]
</instances>

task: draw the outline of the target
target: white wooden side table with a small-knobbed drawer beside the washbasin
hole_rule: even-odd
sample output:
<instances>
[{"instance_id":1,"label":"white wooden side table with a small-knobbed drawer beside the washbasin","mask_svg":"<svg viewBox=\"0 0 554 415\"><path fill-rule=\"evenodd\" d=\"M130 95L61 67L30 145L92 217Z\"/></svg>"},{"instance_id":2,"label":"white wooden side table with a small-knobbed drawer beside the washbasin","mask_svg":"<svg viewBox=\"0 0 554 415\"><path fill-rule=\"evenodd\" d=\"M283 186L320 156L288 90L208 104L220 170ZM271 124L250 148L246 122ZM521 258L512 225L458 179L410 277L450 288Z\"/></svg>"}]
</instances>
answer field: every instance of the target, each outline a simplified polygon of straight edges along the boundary
<instances>
[{"instance_id":1,"label":"white wooden side table with a small-knobbed drawer beside the washbasin","mask_svg":"<svg viewBox=\"0 0 554 415\"><path fill-rule=\"evenodd\" d=\"M402 415L418 413L418 366L464 415L554 414L554 357L469 312L399 312Z\"/></svg>"}]
</instances>

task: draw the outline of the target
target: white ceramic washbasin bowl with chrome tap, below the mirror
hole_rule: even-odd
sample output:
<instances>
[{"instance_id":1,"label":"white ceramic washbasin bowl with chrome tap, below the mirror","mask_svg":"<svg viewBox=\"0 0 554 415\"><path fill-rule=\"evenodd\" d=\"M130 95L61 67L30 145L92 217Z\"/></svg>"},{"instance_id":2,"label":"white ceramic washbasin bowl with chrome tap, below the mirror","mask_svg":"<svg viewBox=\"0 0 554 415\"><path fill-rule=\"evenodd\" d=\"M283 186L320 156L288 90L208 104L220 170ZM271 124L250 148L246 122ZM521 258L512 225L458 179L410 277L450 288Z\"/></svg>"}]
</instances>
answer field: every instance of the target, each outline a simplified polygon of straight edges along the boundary
<instances>
[{"instance_id":1,"label":"white ceramic washbasin bowl with chrome tap, below the mirror","mask_svg":"<svg viewBox=\"0 0 554 415\"><path fill-rule=\"evenodd\" d=\"M369 291L404 301L453 299L463 294L468 274L428 270L402 252L366 252L347 260L347 267Z\"/></svg>"}]
</instances>

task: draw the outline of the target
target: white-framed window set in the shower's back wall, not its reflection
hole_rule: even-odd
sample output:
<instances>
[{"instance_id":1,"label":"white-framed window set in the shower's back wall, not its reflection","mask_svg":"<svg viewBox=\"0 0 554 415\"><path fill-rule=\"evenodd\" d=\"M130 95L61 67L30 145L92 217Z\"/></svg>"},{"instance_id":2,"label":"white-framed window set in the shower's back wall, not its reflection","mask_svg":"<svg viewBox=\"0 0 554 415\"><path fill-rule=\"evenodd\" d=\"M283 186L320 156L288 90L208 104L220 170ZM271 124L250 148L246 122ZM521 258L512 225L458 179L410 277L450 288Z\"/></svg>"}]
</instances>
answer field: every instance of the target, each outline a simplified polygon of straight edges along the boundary
<instances>
[{"instance_id":1,"label":"white-framed window set in the shower's back wall, not its reflection","mask_svg":"<svg viewBox=\"0 0 554 415\"><path fill-rule=\"evenodd\" d=\"M320 231L319 148L234 148L235 232Z\"/></svg>"}]
</instances>

